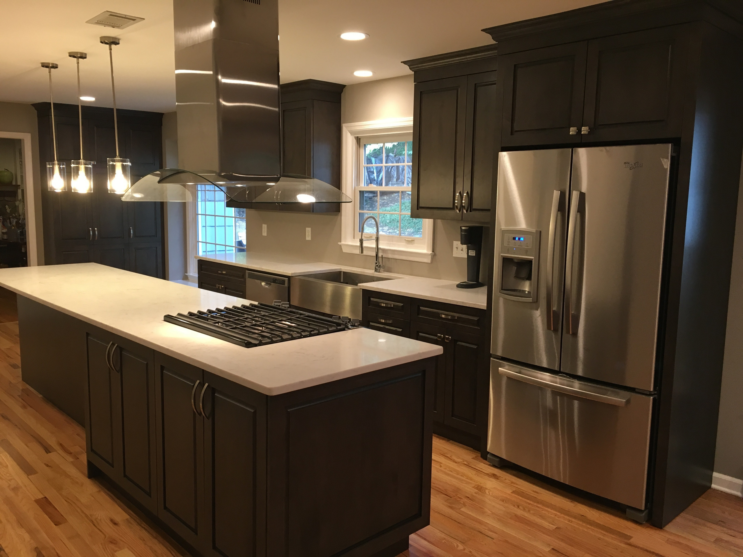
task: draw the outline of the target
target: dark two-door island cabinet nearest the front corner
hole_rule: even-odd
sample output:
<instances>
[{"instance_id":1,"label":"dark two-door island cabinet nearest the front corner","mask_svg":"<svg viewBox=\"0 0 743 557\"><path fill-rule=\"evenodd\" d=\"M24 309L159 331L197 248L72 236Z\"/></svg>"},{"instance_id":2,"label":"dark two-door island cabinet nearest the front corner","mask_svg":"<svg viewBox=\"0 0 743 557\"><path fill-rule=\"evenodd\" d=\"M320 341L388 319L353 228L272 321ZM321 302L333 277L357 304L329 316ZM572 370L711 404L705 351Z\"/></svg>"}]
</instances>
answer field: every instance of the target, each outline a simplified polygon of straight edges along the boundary
<instances>
[{"instance_id":1,"label":"dark two-door island cabinet nearest the front corner","mask_svg":"<svg viewBox=\"0 0 743 557\"><path fill-rule=\"evenodd\" d=\"M265 548L265 396L157 354L158 517L204 556Z\"/></svg>"}]
</instances>

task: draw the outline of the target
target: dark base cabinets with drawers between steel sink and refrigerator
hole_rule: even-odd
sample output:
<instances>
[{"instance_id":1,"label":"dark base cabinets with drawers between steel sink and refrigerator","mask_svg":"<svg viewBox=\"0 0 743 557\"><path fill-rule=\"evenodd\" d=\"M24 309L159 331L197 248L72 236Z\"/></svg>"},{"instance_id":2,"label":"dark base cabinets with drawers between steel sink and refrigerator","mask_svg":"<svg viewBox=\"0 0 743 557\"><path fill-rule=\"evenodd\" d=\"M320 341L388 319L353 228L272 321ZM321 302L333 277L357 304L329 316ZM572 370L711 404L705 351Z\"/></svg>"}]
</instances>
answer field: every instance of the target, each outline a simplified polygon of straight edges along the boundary
<instances>
[{"instance_id":1,"label":"dark base cabinets with drawers between steel sink and refrigerator","mask_svg":"<svg viewBox=\"0 0 743 557\"><path fill-rule=\"evenodd\" d=\"M433 431L480 449L490 356L485 311L371 290L362 300L363 326L444 348L435 359Z\"/></svg>"}]
</instances>

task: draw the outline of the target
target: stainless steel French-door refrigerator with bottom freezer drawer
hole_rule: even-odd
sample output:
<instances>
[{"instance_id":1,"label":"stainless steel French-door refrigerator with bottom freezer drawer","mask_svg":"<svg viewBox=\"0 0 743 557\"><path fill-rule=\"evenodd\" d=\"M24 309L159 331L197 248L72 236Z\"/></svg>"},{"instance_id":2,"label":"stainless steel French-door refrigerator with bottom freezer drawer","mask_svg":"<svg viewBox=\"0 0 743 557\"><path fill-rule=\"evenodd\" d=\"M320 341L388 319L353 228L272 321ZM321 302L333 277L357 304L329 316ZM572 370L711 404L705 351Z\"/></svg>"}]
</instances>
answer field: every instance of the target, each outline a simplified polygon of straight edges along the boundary
<instances>
[{"instance_id":1,"label":"stainless steel French-door refrigerator with bottom freezer drawer","mask_svg":"<svg viewBox=\"0 0 743 557\"><path fill-rule=\"evenodd\" d=\"M487 450L635 509L671 155L669 144L499 154Z\"/></svg>"}]
</instances>

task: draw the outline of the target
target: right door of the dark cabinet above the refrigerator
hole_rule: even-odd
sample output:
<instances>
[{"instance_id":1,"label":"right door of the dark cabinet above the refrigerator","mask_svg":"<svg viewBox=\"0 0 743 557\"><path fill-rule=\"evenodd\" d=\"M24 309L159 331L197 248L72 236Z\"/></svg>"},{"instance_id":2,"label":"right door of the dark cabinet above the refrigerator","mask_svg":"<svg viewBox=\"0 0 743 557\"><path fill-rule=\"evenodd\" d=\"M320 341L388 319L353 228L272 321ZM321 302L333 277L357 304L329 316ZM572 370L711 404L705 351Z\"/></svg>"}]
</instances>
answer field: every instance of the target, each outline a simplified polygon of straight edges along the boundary
<instances>
[{"instance_id":1,"label":"right door of the dark cabinet above the refrigerator","mask_svg":"<svg viewBox=\"0 0 743 557\"><path fill-rule=\"evenodd\" d=\"M681 135L685 25L588 42L583 142Z\"/></svg>"}]
</instances>

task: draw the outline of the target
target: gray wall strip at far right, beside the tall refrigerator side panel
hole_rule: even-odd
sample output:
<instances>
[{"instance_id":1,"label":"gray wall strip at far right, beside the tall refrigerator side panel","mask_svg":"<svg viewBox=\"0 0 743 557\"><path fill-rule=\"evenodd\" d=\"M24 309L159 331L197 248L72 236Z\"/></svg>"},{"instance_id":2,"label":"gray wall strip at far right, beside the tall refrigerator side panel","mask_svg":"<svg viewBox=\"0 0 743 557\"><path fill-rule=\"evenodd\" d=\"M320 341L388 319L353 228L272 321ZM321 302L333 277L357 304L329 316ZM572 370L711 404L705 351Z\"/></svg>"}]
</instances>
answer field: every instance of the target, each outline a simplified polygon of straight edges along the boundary
<instances>
[{"instance_id":1,"label":"gray wall strip at far right, beside the tall refrigerator side panel","mask_svg":"<svg viewBox=\"0 0 743 557\"><path fill-rule=\"evenodd\" d=\"M715 472L743 479L743 180L738 196Z\"/></svg>"}]
</instances>

